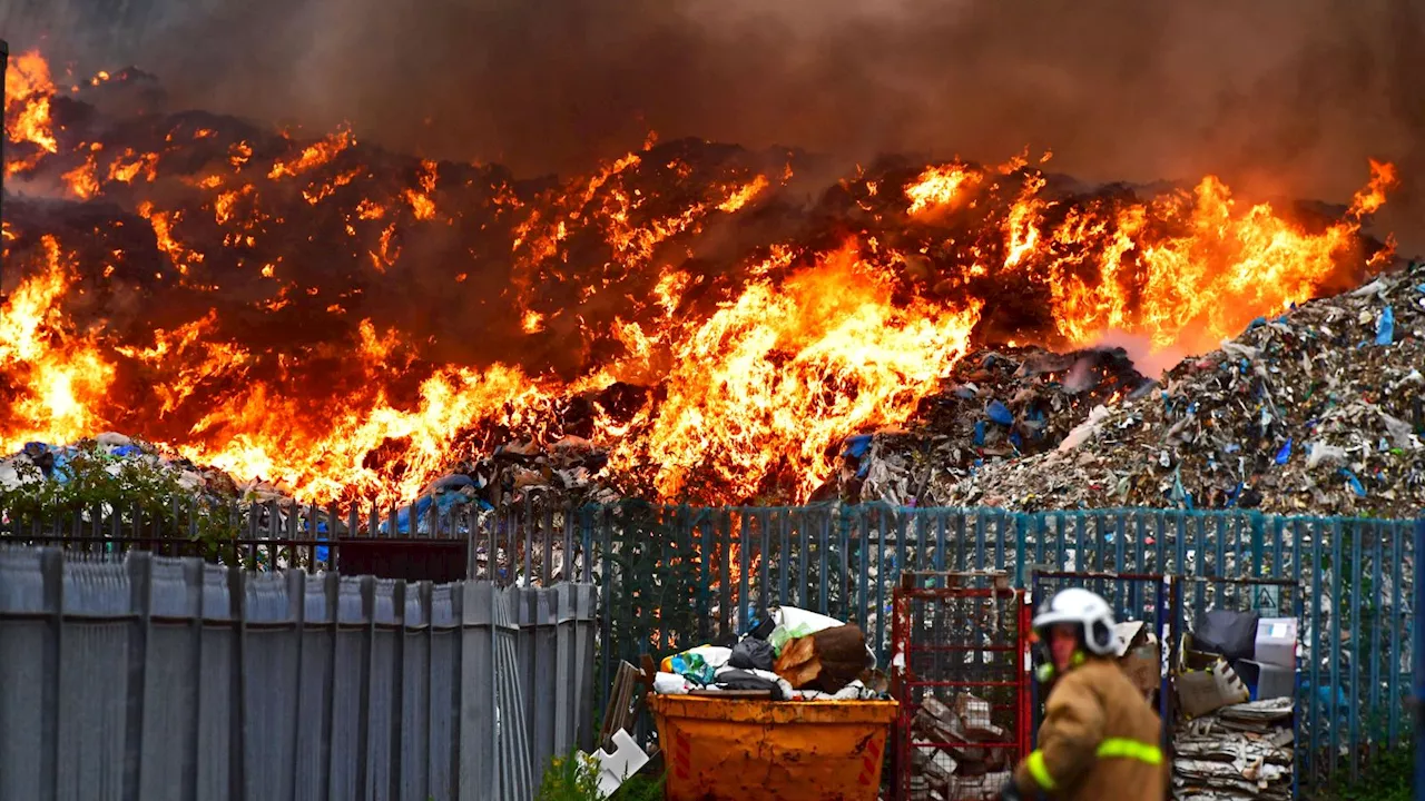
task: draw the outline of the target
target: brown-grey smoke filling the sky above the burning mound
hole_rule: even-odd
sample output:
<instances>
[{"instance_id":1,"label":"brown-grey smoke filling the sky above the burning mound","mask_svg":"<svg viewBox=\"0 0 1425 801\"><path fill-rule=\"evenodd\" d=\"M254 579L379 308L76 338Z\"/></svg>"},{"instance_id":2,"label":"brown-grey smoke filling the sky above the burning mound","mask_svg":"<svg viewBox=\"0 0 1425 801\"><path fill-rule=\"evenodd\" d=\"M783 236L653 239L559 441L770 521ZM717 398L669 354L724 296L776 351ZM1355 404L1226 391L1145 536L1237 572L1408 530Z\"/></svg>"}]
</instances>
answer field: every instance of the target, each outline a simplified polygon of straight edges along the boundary
<instances>
[{"instance_id":1,"label":"brown-grey smoke filling the sky above the burning mound","mask_svg":"<svg viewBox=\"0 0 1425 801\"><path fill-rule=\"evenodd\" d=\"M93 7L90 7L93 6ZM1089 180L1218 172L1345 200L1402 168L1425 212L1416 0L56 0L0 3L77 70L138 63L175 101L388 147L587 168L648 130L849 157L1052 148ZM114 9L127 9L117 17Z\"/></svg>"}]
</instances>

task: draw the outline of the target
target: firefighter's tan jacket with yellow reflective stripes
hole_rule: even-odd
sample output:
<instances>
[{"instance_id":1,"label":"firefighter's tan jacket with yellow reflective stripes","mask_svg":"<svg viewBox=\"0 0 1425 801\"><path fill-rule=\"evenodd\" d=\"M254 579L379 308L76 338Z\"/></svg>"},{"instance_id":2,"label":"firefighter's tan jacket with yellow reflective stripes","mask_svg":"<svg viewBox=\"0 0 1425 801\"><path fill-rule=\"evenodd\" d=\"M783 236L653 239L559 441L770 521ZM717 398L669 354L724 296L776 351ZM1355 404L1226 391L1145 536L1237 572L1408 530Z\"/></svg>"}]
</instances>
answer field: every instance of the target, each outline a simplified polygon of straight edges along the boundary
<instances>
[{"instance_id":1,"label":"firefighter's tan jacket with yellow reflective stripes","mask_svg":"<svg viewBox=\"0 0 1425 801\"><path fill-rule=\"evenodd\" d=\"M1015 771L1019 790L1064 801L1163 801L1161 724L1119 666L1092 658L1049 693L1039 748Z\"/></svg>"}]
</instances>

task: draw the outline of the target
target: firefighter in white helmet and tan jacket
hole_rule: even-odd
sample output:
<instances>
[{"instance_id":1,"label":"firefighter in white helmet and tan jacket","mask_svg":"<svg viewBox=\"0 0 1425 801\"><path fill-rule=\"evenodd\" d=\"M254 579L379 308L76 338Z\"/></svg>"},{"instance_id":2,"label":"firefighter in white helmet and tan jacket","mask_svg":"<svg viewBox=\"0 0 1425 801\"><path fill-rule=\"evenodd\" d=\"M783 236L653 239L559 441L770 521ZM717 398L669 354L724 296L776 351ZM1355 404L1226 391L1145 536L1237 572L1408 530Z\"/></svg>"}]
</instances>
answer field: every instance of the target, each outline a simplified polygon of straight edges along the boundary
<instances>
[{"instance_id":1,"label":"firefighter in white helmet and tan jacket","mask_svg":"<svg viewBox=\"0 0 1425 801\"><path fill-rule=\"evenodd\" d=\"M1089 590L1039 607L1035 636L1047 684L1039 748L1015 768L1002 801L1163 801L1168 772L1161 723L1114 658L1113 610Z\"/></svg>"}]
</instances>

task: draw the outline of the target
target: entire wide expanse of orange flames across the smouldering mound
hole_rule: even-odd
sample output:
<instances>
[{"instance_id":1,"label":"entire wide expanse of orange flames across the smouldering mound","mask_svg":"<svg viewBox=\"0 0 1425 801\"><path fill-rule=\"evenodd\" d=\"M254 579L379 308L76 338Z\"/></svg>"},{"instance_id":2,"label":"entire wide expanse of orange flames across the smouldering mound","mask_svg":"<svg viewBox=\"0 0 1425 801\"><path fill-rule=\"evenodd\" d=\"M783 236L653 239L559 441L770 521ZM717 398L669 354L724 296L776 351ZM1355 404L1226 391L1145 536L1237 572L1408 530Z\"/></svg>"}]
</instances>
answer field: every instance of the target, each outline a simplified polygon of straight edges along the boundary
<instances>
[{"instance_id":1,"label":"entire wide expanse of orange flames across the smouldering mound","mask_svg":"<svg viewBox=\"0 0 1425 801\"><path fill-rule=\"evenodd\" d=\"M1389 258L1367 252L1361 227L1398 180L1372 161L1348 214L1307 225L1216 177L1153 197L1056 194L1025 151L999 167L858 171L772 231L785 198L765 160L700 157L701 144L650 137L536 191L479 165L372 160L348 130L57 137L53 94L43 58L11 63L6 171L103 201L83 219L121 214L107 228L6 224L24 279L0 316L13 391L0 446L120 428L315 502L409 499L502 442L547 445L576 399L630 489L805 499L832 475L835 443L903 422L976 326L1053 346L1109 331L1213 346ZM802 228L824 208L829 228ZM432 229L477 234L447 252ZM429 312L388 314L408 291ZM137 328L111 319L140 306ZM1006 306L1017 316L1003 331ZM450 329L426 322L460 315L490 315L509 329L492 341L520 346L443 356ZM567 358L529 355L551 349ZM644 393L606 399L617 382Z\"/></svg>"}]
</instances>

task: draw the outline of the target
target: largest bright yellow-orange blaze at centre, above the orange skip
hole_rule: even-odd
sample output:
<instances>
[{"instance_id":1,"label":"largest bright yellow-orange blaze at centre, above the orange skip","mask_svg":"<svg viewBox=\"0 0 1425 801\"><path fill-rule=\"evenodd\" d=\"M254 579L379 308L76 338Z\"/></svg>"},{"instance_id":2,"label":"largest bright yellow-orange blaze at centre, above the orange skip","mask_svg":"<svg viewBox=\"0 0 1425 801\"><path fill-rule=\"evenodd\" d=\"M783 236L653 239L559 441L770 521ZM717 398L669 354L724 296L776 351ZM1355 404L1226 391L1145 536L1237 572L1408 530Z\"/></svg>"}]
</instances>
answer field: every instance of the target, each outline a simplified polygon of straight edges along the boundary
<instances>
[{"instance_id":1,"label":"largest bright yellow-orange blaze at centre, above the orange skip","mask_svg":"<svg viewBox=\"0 0 1425 801\"><path fill-rule=\"evenodd\" d=\"M647 436L621 439L614 463L656 465L665 497L698 472L748 497L789 463L805 496L831 470L828 446L903 419L968 349L978 305L898 306L891 295L852 248L782 286L752 284L678 343L667 399ZM708 463L708 453L720 458Z\"/></svg>"}]
</instances>

